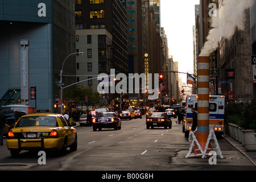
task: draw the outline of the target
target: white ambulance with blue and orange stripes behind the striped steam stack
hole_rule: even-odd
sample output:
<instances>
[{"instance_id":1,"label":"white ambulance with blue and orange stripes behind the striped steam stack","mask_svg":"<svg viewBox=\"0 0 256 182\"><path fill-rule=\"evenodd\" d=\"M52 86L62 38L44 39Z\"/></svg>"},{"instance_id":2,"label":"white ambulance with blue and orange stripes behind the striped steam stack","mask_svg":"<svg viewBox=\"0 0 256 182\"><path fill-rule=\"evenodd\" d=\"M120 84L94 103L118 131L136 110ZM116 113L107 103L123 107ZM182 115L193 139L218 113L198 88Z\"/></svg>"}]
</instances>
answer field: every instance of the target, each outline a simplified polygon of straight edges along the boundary
<instances>
[{"instance_id":1,"label":"white ambulance with blue and orange stripes behind the striped steam stack","mask_svg":"<svg viewBox=\"0 0 256 182\"><path fill-rule=\"evenodd\" d=\"M191 94L187 96L187 112L183 120L183 131L185 137L188 137L189 131L193 124L192 107L197 111L197 95ZM209 129L213 127L216 135L224 133L224 110L225 110L225 96L209 96Z\"/></svg>"}]
</instances>

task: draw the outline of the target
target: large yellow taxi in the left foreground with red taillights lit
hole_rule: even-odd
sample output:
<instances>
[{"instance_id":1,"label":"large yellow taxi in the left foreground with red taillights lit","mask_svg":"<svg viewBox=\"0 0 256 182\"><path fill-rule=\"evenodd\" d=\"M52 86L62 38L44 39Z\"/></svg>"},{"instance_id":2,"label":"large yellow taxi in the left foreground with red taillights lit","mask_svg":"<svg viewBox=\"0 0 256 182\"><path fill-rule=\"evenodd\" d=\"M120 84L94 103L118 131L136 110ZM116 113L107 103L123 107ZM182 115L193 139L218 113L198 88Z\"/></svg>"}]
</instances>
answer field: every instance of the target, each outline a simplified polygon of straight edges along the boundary
<instances>
[{"instance_id":1,"label":"large yellow taxi in the left foreground with red taillights lit","mask_svg":"<svg viewBox=\"0 0 256 182\"><path fill-rule=\"evenodd\" d=\"M23 115L9 131L6 145L11 156L18 156L22 150L58 150L65 155L67 147L77 150L75 125L61 114Z\"/></svg>"}]
</instances>

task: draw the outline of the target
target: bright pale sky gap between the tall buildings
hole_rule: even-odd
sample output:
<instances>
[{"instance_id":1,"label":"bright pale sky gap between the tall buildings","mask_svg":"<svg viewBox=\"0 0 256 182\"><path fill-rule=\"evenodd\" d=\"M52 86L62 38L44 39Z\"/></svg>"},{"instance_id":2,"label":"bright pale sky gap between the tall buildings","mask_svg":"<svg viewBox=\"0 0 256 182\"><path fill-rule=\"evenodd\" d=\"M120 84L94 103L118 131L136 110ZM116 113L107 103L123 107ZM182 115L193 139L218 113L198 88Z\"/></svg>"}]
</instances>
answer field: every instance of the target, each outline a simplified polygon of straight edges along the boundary
<instances>
[{"instance_id":1,"label":"bright pale sky gap between the tall buildings","mask_svg":"<svg viewBox=\"0 0 256 182\"><path fill-rule=\"evenodd\" d=\"M179 62L179 72L193 73L193 25L200 0L160 0L161 27L168 40L169 56ZM187 75L180 74L187 83Z\"/></svg>"}]
</instances>

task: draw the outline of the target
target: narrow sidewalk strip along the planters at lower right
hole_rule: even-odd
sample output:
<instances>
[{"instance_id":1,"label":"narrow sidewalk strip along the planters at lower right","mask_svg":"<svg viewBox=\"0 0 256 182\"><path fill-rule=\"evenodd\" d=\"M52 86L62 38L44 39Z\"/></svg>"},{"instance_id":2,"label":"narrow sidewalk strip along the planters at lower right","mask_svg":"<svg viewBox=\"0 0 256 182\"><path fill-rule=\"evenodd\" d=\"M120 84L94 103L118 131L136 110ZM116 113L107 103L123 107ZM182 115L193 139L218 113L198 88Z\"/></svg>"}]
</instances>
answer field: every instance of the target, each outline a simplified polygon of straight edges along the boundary
<instances>
[{"instance_id":1,"label":"narrow sidewalk strip along the planters at lower right","mask_svg":"<svg viewBox=\"0 0 256 182\"><path fill-rule=\"evenodd\" d=\"M256 166L256 151L246 151L242 143L237 142L237 140L233 139L227 134L224 134L223 137L227 142L232 144L233 147L237 148L238 151L245 155L254 166Z\"/></svg>"}]
</instances>

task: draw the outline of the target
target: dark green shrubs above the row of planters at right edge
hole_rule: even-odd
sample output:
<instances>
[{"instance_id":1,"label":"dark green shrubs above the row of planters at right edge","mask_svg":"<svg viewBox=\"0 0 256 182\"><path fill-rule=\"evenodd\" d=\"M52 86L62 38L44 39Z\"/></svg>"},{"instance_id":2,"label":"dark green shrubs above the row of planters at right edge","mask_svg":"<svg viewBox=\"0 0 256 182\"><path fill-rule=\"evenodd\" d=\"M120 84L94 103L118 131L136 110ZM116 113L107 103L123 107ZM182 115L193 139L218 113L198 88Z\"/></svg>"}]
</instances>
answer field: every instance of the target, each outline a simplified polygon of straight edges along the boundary
<instances>
[{"instance_id":1,"label":"dark green shrubs above the row of planters at right edge","mask_svg":"<svg viewBox=\"0 0 256 182\"><path fill-rule=\"evenodd\" d=\"M225 122L234 123L243 129L256 130L256 100L226 105Z\"/></svg>"}]
</instances>

